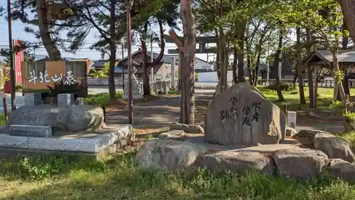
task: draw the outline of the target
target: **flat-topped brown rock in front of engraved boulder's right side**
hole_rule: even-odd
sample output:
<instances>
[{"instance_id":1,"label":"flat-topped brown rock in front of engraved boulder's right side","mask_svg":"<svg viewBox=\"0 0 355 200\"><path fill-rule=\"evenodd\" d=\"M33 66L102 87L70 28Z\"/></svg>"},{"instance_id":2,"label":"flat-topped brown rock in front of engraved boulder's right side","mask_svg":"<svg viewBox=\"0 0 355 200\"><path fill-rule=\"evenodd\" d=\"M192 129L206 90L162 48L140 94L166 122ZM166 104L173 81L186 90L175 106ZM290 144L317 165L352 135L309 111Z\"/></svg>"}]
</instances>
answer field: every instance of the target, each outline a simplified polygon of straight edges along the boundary
<instances>
[{"instance_id":1,"label":"flat-topped brown rock in front of engraved boulder's right side","mask_svg":"<svg viewBox=\"0 0 355 200\"><path fill-rule=\"evenodd\" d=\"M286 177L317 177L327 159L327 154L313 149L290 148L280 149L273 153L278 173Z\"/></svg>"}]
</instances>

